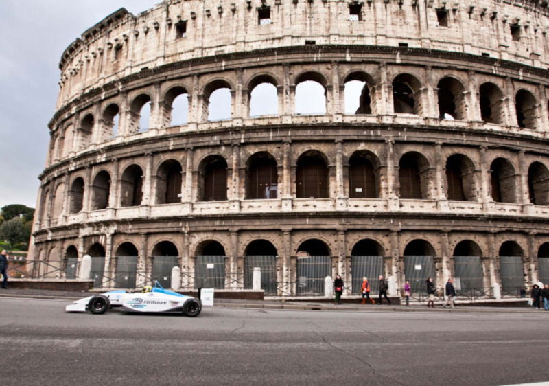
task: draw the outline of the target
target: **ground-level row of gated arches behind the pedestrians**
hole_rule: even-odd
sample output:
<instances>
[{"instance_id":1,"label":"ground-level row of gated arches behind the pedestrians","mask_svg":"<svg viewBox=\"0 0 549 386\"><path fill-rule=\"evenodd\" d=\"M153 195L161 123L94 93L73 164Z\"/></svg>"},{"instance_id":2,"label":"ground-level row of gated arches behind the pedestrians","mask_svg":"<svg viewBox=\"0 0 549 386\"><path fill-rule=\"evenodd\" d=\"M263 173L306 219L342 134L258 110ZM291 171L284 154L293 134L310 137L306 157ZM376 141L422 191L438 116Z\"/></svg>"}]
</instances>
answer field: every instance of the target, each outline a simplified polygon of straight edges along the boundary
<instances>
[{"instance_id":1,"label":"ground-level row of gated arches behind the pedestrians","mask_svg":"<svg viewBox=\"0 0 549 386\"><path fill-rule=\"evenodd\" d=\"M108 273L104 272L105 249L100 243L94 243L86 251L92 259L92 277L96 286L103 286ZM296 283L294 291L296 295L314 295L323 293L324 277L333 275L332 251L329 246L316 238L310 238L301 242L296 251ZM377 291L377 276L386 275L384 265L386 251L384 247L373 239L362 239L355 242L351 249L351 276L353 293L360 291L362 277L371 279L373 291ZM50 253L51 255L51 253ZM110 286L121 288L132 288L136 285L137 266L139 262L139 251L132 242L122 242L114 251L116 264L112 273L113 283ZM161 284L170 286L171 270L174 266L181 266L181 257L178 248L174 243L163 240L157 242L152 248L152 256L148 269L149 280L159 280ZM277 248L268 240L258 239L248 243L244 249L243 277L241 283L243 288L251 288L251 277L253 268L261 268L262 288L268 295L277 295L277 272L280 271L280 264L277 262L279 253ZM549 282L549 242L542 244L537 252L539 260L539 280ZM52 257L50 256L51 260ZM78 251L74 245L65 249L65 266L67 275L76 275L70 267L78 259ZM217 240L205 240L198 245L194 251L194 272L184 272L184 275L192 275L191 286L200 288L215 286L215 288L226 288L226 249ZM412 284L414 292L424 291L425 279L435 279L436 253L430 242L422 239L415 239L408 242L404 249L404 256L401 256L400 269L401 280L408 280ZM525 253L517 242L504 241L498 249L498 262L500 281L504 293L514 295L517 288L524 286L526 263ZM480 246L472 240L462 240L452 251L453 272L458 287L462 291L479 291L485 288L487 273L486 260ZM108 266L108 264L107 264ZM113 266L111 265L111 268ZM129 279L128 279L129 277Z\"/></svg>"}]
</instances>

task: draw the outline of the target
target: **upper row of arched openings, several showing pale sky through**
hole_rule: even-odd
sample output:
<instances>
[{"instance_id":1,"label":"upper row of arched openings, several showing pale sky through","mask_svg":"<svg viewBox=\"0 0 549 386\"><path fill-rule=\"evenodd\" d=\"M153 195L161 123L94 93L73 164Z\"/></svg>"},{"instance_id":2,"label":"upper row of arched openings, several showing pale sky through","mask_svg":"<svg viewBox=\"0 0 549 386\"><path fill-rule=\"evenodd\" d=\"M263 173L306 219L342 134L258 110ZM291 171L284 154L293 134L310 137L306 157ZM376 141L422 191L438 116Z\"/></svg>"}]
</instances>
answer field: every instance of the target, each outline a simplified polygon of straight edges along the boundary
<instances>
[{"instance_id":1,"label":"upper row of arched openings, several showing pale sky through","mask_svg":"<svg viewBox=\"0 0 549 386\"><path fill-rule=\"evenodd\" d=\"M379 114L380 84L367 73L355 71L344 78L342 94L345 114ZM246 115L258 117L278 115L281 110L281 84L275 76L262 74L247 84L248 98ZM327 89L329 82L322 73L307 71L295 79L293 95L294 113L296 115L323 115L327 113ZM428 109L425 104L425 85L411 73L399 73L388 87L393 100L393 113L425 115ZM202 100L201 121L229 120L233 116L235 104L235 86L226 79L213 80L199 94ZM469 101L469 90L465 83L454 76L445 76L436 82L434 94L438 104L439 117L443 120L472 119L468 113L471 104L478 106L478 116L484 122L494 124L506 123L505 95L493 82L480 84L475 101ZM128 102L128 110L122 111L120 102L107 104L96 117L95 113L84 113L79 122L69 124L60 130L54 139L54 157L67 157L73 150L88 147L93 140L93 131L97 130L95 141L102 142L119 134L121 114L125 115L127 132L139 133L148 130L151 125L168 127L187 124L189 120L189 91L187 88L174 86L159 98L156 106L161 110L155 113L154 95L140 93ZM539 128L539 102L527 89L515 93L516 125L522 128ZM154 119L151 119L152 115ZM75 128L76 125L77 127Z\"/></svg>"}]
</instances>

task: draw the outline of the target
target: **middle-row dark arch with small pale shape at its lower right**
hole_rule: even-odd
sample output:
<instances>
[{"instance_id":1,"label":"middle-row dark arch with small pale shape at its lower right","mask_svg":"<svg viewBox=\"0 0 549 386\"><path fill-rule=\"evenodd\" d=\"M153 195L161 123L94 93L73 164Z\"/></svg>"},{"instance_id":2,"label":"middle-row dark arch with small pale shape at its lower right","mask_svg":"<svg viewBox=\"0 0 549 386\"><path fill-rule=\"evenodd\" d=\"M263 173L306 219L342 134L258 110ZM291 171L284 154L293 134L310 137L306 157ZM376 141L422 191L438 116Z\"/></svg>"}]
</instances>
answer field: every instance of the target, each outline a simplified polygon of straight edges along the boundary
<instances>
[{"instance_id":1,"label":"middle-row dark arch with small pale shape at its lower right","mask_svg":"<svg viewBox=\"0 0 549 386\"><path fill-rule=\"evenodd\" d=\"M268 152L258 152L248 161L246 198L262 200L278 197L277 161Z\"/></svg>"}]
</instances>

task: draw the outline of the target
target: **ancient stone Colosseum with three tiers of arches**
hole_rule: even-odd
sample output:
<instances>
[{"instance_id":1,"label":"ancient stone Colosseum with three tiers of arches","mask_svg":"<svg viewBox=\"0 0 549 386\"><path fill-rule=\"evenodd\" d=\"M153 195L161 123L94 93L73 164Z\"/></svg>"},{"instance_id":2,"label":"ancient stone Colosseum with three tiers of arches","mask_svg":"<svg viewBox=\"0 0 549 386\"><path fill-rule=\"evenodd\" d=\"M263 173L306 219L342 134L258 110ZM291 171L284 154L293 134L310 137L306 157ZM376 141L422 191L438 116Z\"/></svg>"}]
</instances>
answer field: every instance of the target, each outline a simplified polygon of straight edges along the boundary
<instances>
[{"instance_id":1,"label":"ancient stone Colosseum with three tiers of arches","mask_svg":"<svg viewBox=\"0 0 549 386\"><path fill-rule=\"evenodd\" d=\"M31 256L89 255L95 288L549 282L548 25L547 0L121 8L62 54Z\"/></svg>"}]
</instances>

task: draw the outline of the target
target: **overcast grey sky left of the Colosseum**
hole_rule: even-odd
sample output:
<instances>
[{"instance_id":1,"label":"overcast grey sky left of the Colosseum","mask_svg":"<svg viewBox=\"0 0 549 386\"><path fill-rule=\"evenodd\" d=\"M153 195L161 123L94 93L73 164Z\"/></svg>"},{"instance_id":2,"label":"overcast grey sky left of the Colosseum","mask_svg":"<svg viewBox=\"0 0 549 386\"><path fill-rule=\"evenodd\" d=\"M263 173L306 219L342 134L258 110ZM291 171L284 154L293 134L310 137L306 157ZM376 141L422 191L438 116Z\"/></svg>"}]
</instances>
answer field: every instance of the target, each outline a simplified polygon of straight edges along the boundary
<instances>
[{"instance_id":1,"label":"overcast grey sky left of the Colosseum","mask_svg":"<svg viewBox=\"0 0 549 386\"><path fill-rule=\"evenodd\" d=\"M49 144L62 52L121 7L160 0L0 0L0 207L36 205Z\"/></svg>"}]
</instances>

